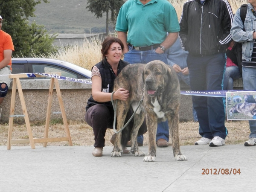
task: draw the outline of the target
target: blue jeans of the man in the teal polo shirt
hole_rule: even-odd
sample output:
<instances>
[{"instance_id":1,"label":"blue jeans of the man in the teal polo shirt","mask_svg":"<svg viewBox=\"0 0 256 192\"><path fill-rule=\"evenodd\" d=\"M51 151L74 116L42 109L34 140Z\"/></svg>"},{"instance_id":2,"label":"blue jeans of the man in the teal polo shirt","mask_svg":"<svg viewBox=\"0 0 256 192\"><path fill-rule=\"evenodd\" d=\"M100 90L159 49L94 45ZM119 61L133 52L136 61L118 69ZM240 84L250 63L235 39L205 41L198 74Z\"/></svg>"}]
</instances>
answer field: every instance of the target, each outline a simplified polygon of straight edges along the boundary
<instances>
[{"instance_id":1,"label":"blue jeans of the man in the teal polo shirt","mask_svg":"<svg viewBox=\"0 0 256 192\"><path fill-rule=\"evenodd\" d=\"M147 64L150 61L160 60L168 64L166 53L158 54L155 49L151 47L148 51L137 51L129 47L129 51L124 54L124 61L130 64L143 63ZM169 126L168 121L160 122L157 124L157 137L156 140L164 139L169 142ZM138 136L138 143L143 143L143 136Z\"/></svg>"}]
</instances>

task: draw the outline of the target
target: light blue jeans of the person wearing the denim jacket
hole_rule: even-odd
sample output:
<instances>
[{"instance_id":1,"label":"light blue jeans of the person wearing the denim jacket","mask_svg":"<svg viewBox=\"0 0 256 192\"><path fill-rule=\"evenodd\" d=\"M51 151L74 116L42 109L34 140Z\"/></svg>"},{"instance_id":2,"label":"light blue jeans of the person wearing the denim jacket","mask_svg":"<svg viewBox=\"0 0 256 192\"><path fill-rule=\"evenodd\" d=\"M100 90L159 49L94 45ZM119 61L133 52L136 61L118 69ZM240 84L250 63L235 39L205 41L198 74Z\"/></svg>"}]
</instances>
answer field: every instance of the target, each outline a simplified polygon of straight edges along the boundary
<instances>
[{"instance_id":1,"label":"light blue jeans of the person wearing the denim jacket","mask_svg":"<svg viewBox=\"0 0 256 192\"><path fill-rule=\"evenodd\" d=\"M244 90L256 90L256 68L243 67L243 83ZM256 138L256 121L249 121L250 135Z\"/></svg>"}]
</instances>

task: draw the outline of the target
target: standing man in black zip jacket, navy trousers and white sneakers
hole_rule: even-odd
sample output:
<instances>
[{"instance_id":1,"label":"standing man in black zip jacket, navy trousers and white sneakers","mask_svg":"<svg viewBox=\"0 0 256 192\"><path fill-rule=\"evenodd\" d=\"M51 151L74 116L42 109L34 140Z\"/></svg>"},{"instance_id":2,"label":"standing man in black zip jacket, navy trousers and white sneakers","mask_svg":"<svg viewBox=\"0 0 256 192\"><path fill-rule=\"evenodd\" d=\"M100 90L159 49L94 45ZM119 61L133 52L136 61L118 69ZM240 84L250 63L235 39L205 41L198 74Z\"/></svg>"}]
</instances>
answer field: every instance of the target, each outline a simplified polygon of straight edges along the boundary
<instances>
[{"instance_id":1,"label":"standing man in black zip jacket, navy trousers and white sneakers","mask_svg":"<svg viewBox=\"0 0 256 192\"><path fill-rule=\"evenodd\" d=\"M226 49L230 43L233 12L227 0L188 0L183 5L179 37L189 51L187 65L191 90L223 90ZM225 99L193 96L199 134L195 145L225 145Z\"/></svg>"}]
</instances>

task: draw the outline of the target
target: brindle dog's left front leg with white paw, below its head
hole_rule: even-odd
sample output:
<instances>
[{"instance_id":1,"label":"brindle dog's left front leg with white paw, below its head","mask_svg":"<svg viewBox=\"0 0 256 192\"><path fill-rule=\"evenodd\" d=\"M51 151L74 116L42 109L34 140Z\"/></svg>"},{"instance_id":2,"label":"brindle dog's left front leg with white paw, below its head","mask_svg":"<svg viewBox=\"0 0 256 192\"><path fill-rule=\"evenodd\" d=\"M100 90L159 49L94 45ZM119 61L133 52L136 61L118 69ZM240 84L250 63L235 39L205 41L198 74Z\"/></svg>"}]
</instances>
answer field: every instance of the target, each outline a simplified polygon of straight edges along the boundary
<instances>
[{"instance_id":1,"label":"brindle dog's left front leg with white paw, below its head","mask_svg":"<svg viewBox=\"0 0 256 192\"><path fill-rule=\"evenodd\" d=\"M147 128L148 128L148 140L149 140L149 147L148 147L148 154L144 157L144 162L154 162L157 157L157 116L146 114L146 121L147 121Z\"/></svg>"}]
</instances>

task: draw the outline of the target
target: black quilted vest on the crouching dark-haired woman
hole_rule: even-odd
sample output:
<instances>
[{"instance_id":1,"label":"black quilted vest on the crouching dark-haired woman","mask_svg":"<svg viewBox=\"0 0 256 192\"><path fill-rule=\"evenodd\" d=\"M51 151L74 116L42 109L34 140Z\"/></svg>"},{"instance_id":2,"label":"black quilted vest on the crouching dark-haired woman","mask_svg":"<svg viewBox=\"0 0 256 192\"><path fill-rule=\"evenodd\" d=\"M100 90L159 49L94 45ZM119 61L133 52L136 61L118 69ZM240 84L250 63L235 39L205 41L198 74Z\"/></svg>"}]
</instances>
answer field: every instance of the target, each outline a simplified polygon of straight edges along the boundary
<instances>
[{"instance_id":1,"label":"black quilted vest on the crouching dark-haired woman","mask_svg":"<svg viewBox=\"0 0 256 192\"><path fill-rule=\"evenodd\" d=\"M127 63L126 61L120 60L119 63L118 63L118 67L117 67L117 75L128 64L129 63ZM94 66L96 66L99 69L99 73L100 73L101 78L102 78L102 92L112 93L113 88L114 88L114 81L116 79L116 75L113 72L111 65L108 64L108 61L106 59L103 59L102 61L100 61L99 63L97 63ZM92 67L92 69L93 69L93 67ZM103 103L96 102L93 99L93 96L91 95L90 98L88 99L85 110L87 111L91 106L96 105L96 104L103 104L103 105L106 105L107 107L113 107L111 101L103 102Z\"/></svg>"}]
</instances>

